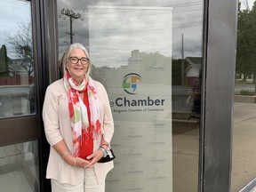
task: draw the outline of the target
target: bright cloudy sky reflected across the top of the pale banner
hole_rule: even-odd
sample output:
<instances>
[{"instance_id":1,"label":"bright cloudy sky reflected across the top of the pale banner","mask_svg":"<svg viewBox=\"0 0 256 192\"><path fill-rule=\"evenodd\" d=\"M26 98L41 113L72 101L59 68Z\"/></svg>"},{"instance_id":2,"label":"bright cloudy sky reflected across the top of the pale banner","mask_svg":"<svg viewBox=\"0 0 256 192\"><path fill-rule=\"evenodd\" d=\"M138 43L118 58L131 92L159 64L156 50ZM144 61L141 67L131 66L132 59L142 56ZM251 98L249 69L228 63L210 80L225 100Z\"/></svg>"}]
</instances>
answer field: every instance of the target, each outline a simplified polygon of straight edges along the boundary
<instances>
[{"instance_id":1,"label":"bright cloudy sky reflected across the top of the pale banner","mask_svg":"<svg viewBox=\"0 0 256 192\"><path fill-rule=\"evenodd\" d=\"M172 7L101 5L88 6L88 12L95 66L127 65L132 50L172 57Z\"/></svg>"}]
</instances>

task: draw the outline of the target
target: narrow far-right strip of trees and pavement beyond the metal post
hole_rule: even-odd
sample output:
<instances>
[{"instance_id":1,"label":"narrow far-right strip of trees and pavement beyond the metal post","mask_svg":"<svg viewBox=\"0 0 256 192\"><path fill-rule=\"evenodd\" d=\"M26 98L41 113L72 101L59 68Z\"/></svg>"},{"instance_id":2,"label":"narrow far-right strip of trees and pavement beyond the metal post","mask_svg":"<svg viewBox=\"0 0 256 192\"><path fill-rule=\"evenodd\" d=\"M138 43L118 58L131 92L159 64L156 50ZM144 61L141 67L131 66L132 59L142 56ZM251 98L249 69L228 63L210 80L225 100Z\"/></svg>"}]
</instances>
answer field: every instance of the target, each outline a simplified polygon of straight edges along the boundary
<instances>
[{"instance_id":1,"label":"narrow far-right strip of trees and pavement beyond the metal post","mask_svg":"<svg viewBox=\"0 0 256 192\"><path fill-rule=\"evenodd\" d=\"M239 1L231 191L256 190L255 5L254 0Z\"/></svg>"}]
</instances>

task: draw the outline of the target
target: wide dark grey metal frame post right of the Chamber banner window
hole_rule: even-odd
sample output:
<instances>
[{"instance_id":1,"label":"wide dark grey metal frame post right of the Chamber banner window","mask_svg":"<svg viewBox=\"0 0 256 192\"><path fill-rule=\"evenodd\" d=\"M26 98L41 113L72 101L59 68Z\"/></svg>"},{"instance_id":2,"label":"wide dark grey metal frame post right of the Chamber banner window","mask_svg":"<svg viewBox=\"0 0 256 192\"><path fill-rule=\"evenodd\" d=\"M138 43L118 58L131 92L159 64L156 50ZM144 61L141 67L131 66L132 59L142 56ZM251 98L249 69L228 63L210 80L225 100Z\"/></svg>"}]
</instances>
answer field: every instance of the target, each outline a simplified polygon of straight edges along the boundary
<instances>
[{"instance_id":1,"label":"wide dark grey metal frame post right of the Chamber banner window","mask_svg":"<svg viewBox=\"0 0 256 192\"><path fill-rule=\"evenodd\" d=\"M230 191L237 0L204 1L204 80L199 191Z\"/></svg>"}]
</instances>

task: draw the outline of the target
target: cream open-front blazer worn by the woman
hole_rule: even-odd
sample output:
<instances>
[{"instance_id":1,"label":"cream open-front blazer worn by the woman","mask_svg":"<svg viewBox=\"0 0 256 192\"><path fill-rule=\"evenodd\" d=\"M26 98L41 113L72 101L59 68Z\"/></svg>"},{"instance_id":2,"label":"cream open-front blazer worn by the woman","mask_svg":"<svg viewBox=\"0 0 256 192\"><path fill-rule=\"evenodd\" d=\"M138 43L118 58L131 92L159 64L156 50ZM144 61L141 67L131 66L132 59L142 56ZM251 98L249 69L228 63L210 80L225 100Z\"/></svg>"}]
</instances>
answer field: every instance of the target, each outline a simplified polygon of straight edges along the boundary
<instances>
[{"instance_id":1,"label":"cream open-front blazer worn by the woman","mask_svg":"<svg viewBox=\"0 0 256 192\"><path fill-rule=\"evenodd\" d=\"M102 84L93 81L99 98L101 130L104 140L110 143L114 133L114 123L109 106L108 94ZM65 92L63 78L47 87L43 107L44 132L50 148L46 178L55 179L60 183L77 184L77 178L83 175L83 168L76 168L66 164L61 156L52 148L60 140L65 140L66 145L73 153L73 140L69 122L68 96ZM114 167L113 161L97 163L94 166L98 181L104 182L107 173Z\"/></svg>"}]
</instances>

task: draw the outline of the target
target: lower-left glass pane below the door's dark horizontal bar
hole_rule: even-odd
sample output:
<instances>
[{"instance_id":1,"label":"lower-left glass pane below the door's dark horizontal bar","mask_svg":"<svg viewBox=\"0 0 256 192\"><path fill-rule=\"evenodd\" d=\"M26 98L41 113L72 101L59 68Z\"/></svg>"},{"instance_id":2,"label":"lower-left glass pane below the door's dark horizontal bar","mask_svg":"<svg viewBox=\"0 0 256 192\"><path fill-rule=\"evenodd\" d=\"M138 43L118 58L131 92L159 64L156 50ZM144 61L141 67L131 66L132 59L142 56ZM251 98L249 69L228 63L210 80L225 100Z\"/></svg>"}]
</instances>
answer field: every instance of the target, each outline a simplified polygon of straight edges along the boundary
<instances>
[{"instance_id":1,"label":"lower-left glass pane below the door's dark horizontal bar","mask_svg":"<svg viewBox=\"0 0 256 192\"><path fill-rule=\"evenodd\" d=\"M0 148L1 191L39 191L37 140Z\"/></svg>"}]
</instances>

